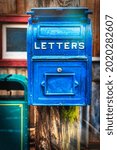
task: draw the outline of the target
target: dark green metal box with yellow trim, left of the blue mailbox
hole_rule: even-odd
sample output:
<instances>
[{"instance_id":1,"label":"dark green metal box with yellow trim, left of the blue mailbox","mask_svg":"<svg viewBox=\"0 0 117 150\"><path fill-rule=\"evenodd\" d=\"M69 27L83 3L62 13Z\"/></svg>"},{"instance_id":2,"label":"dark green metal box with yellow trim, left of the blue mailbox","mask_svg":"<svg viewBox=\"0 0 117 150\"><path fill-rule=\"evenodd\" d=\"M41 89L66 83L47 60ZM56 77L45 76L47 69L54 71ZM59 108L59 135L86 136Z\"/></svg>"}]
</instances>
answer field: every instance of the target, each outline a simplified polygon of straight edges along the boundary
<instances>
[{"instance_id":1,"label":"dark green metal box with yellow trim, left of the blue mailbox","mask_svg":"<svg viewBox=\"0 0 117 150\"><path fill-rule=\"evenodd\" d=\"M28 150L27 78L0 75L0 149ZM5 91L24 91L24 95L6 95ZM22 93L23 94L23 93Z\"/></svg>"}]
</instances>

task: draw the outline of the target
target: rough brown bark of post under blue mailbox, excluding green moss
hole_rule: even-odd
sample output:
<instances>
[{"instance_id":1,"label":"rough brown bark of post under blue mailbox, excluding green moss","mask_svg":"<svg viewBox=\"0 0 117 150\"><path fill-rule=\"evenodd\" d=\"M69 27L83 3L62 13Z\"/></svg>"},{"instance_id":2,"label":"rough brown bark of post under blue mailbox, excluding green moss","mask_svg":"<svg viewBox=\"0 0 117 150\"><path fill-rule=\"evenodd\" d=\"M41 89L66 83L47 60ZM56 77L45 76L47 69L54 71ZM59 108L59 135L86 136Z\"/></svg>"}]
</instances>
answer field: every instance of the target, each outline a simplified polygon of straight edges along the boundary
<instances>
[{"instance_id":1,"label":"rough brown bark of post under blue mailbox, excluding green moss","mask_svg":"<svg viewBox=\"0 0 117 150\"><path fill-rule=\"evenodd\" d=\"M61 109L37 106L36 150L78 150L79 121L63 120Z\"/></svg>"}]
</instances>

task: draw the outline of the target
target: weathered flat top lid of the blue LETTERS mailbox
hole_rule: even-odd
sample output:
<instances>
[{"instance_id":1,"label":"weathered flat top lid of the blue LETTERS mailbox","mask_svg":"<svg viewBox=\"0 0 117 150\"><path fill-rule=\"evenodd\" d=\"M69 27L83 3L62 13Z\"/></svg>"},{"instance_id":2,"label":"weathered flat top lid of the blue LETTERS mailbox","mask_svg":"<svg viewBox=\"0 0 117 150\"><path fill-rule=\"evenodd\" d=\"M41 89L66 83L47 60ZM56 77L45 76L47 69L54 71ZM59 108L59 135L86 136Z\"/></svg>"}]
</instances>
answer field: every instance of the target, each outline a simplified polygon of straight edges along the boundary
<instances>
[{"instance_id":1,"label":"weathered flat top lid of the blue LETTERS mailbox","mask_svg":"<svg viewBox=\"0 0 117 150\"><path fill-rule=\"evenodd\" d=\"M32 8L30 12L31 17L87 17L91 14L87 7L39 7Z\"/></svg>"}]
</instances>

